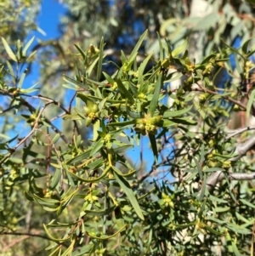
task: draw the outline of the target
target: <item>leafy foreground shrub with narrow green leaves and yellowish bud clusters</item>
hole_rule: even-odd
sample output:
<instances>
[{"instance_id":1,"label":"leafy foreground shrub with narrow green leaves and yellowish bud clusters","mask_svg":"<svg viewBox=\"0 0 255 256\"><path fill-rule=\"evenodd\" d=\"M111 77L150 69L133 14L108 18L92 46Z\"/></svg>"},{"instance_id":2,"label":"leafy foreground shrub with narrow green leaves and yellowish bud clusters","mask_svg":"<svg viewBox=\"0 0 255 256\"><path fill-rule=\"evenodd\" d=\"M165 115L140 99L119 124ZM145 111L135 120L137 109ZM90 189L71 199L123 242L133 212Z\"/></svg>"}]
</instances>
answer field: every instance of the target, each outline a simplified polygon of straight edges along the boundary
<instances>
[{"instance_id":1,"label":"leafy foreground shrub with narrow green leaves and yellowish bud clusters","mask_svg":"<svg viewBox=\"0 0 255 256\"><path fill-rule=\"evenodd\" d=\"M229 67L229 54L239 61L239 81L250 79L249 57L255 52L250 40L241 49L224 43L220 53L201 63L189 59L187 40L174 50L160 40L159 59L148 54L138 63L146 33L128 57L122 52L114 74L102 71L103 39L99 48L76 45L76 75L64 75L65 88L74 90L68 107L34 94L36 86L24 88L23 64L34 54L27 54L32 40L18 42L14 52L3 39L16 65L7 61L1 69L0 93L9 100L3 113L14 110L29 131L16 145L16 137L1 142L1 237L30 236L31 228L24 231L36 225L33 216L27 221L30 204L33 213L42 215L45 231L33 236L50 241L48 255L253 253L254 188L243 180L254 179L253 158L245 156L254 145L254 128L229 134L225 127L232 106L225 109L220 103L227 100L253 116L255 94L235 84L219 94L213 83L214 69ZM19 77L14 70L23 73ZM182 86L165 89L180 77ZM163 103L167 97L173 105ZM248 97L246 104L241 97ZM34 107L31 98L42 105ZM45 110L55 105L64 111L58 117L72 122L71 139L47 116ZM79 131L84 126L91 128L87 146ZM239 134L246 134L246 142L235 139ZM154 163L150 172L139 174L125 153L143 136L150 139ZM162 156L169 136L176 141L174 156ZM159 182L156 176L148 181L162 167L173 182Z\"/></svg>"}]
</instances>

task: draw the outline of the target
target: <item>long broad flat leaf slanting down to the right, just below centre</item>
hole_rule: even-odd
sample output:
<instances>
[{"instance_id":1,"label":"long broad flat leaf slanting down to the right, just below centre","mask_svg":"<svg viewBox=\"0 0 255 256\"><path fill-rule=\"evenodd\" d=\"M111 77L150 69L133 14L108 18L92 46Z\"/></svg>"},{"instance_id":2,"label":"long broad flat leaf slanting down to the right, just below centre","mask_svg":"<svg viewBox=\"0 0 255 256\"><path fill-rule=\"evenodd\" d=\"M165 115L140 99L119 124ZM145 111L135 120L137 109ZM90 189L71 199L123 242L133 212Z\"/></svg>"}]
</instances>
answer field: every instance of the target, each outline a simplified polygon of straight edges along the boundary
<instances>
[{"instance_id":1,"label":"long broad flat leaf slanting down to the right, just below centre","mask_svg":"<svg viewBox=\"0 0 255 256\"><path fill-rule=\"evenodd\" d=\"M115 171L113 172L113 175L114 175L117 183L122 187L122 190L127 195L127 198L129 199L130 203L132 204L135 213L137 213L137 215L139 216L140 219L144 220L144 215L139 206L139 202L137 201L136 197L134 196L129 183L127 182L127 179L123 178L121 175L117 174Z\"/></svg>"}]
</instances>

